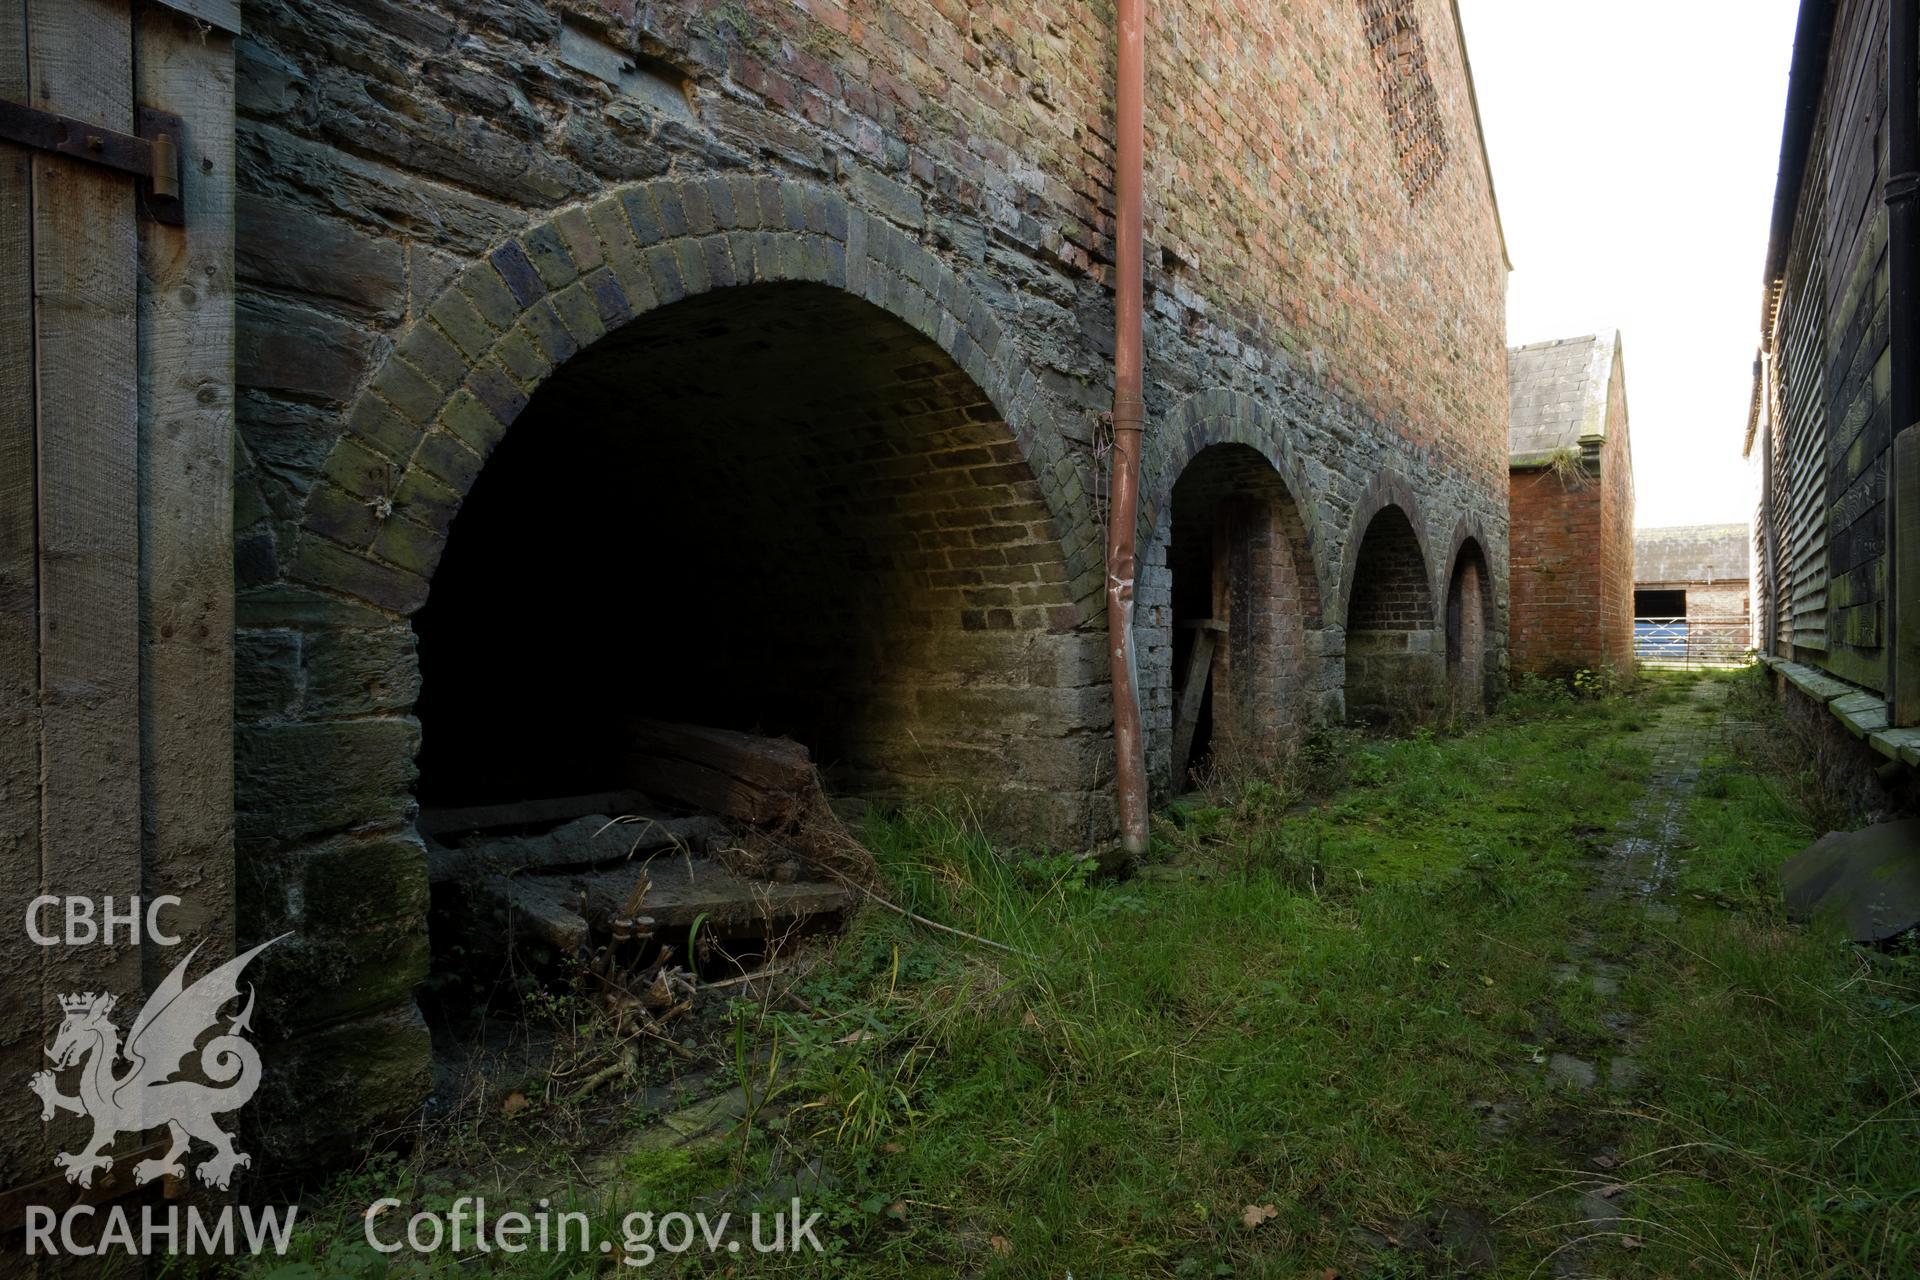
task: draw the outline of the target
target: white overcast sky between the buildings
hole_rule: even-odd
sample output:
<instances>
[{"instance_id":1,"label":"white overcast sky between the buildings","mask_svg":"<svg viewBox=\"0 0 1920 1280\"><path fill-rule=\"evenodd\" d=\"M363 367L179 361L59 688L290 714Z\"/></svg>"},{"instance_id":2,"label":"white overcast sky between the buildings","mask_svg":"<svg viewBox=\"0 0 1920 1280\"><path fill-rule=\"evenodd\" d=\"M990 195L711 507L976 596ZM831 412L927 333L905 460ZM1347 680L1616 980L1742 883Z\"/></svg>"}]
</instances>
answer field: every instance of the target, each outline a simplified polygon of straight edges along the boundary
<instances>
[{"instance_id":1,"label":"white overcast sky between the buildings","mask_svg":"<svg viewBox=\"0 0 1920 1280\"><path fill-rule=\"evenodd\" d=\"M1797 0L1459 0L1507 342L1619 328L1636 524L1745 520Z\"/></svg>"}]
</instances>

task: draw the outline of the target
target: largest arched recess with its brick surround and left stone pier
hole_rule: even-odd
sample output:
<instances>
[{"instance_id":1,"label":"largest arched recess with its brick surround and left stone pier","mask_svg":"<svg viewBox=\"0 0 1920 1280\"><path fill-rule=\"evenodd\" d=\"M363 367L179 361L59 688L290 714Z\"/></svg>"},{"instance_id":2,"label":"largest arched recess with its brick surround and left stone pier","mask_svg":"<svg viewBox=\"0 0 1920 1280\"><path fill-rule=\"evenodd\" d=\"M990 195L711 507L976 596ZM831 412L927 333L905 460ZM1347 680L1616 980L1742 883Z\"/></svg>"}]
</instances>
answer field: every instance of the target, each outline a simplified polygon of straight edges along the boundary
<instances>
[{"instance_id":1,"label":"largest arched recess with its brick surround and left stone pier","mask_svg":"<svg viewBox=\"0 0 1920 1280\"><path fill-rule=\"evenodd\" d=\"M1068 585L1100 539L1064 537L1021 386L945 263L801 182L626 186L459 274L309 493L292 637L238 660L273 681L290 643L301 681L236 729L242 929L296 933L276 1109L390 1117L424 1079L422 737L428 802L591 791L666 712L803 735L845 793L962 785L1027 841L1102 837L1104 647ZM311 1048L382 1019L415 1031L380 1075Z\"/></svg>"}]
</instances>

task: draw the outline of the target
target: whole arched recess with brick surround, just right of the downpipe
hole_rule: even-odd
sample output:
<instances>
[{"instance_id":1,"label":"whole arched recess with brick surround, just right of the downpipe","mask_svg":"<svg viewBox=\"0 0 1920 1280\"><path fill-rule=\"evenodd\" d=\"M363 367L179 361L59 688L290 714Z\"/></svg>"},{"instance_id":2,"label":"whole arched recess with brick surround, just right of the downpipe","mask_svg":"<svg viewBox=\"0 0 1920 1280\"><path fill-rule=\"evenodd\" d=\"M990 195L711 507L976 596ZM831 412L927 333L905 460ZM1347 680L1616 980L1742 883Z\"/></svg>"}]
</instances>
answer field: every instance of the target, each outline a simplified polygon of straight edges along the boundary
<instances>
[{"instance_id":1,"label":"whole arched recess with brick surround, just right of the downpipe","mask_svg":"<svg viewBox=\"0 0 1920 1280\"><path fill-rule=\"evenodd\" d=\"M1148 773L1169 793L1215 752L1260 760L1325 720L1338 672L1323 656L1323 539L1284 434L1258 401L1208 391L1154 445L1135 637ZM1196 649L1212 649L1206 666Z\"/></svg>"}]
</instances>

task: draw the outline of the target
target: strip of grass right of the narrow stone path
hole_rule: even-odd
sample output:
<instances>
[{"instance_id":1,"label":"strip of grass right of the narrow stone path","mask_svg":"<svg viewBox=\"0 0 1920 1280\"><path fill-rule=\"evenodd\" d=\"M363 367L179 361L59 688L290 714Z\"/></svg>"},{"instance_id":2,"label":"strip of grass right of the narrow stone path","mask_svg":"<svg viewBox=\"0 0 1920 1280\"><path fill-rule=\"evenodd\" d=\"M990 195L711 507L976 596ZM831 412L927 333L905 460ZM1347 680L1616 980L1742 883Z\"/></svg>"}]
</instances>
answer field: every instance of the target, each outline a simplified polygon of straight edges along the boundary
<instances>
[{"instance_id":1,"label":"strip of grass right of the narrow stone path","mask_svg":"<svg viewBox=\"0 0 1920 1280\"><path fill-rule=\"evenodd\" d=\"M1920 1274L1920 960L1782 919L1776 873L1837 825L1753 676L1709 754L1670 921L1622 919L1661 1090L1624 1117L1647 1274ZM1622 1174L1624 1176L1624 1174Z\"/></svg>"}]
</instances>

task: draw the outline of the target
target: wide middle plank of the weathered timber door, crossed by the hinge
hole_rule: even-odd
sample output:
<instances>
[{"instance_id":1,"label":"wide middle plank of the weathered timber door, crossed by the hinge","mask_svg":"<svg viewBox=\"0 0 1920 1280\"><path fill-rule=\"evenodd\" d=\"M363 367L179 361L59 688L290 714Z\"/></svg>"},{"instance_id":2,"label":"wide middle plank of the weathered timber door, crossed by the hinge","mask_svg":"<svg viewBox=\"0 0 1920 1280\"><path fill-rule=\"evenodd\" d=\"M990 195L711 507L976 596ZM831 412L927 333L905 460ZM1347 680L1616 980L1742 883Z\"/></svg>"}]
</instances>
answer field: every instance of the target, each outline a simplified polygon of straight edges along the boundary
<instances>
[{"instance_id":1,"label":"wide middle plank of the weathered timber door, crossed by the hinge","mask_svg":"<svg viewBox=\"0 0 1920 1280\"><path fill-rule=\"evenodd\" d=\"M131 132L127 0L29 0L29 102ZM140 889L140 539L134 184L81 159L33 157L33 372L40 486L42 892ZM31 896L15 890L13 898ZM13 929L21 912L4 912ZM56 994L140 990L134 946L40 948ZM23 1109L27 1113L27 1109ZM29 1119L38 1119L27 1113ZM48 1126L63 1150L84 1123Z\"/></svg>"}]
</instances>

